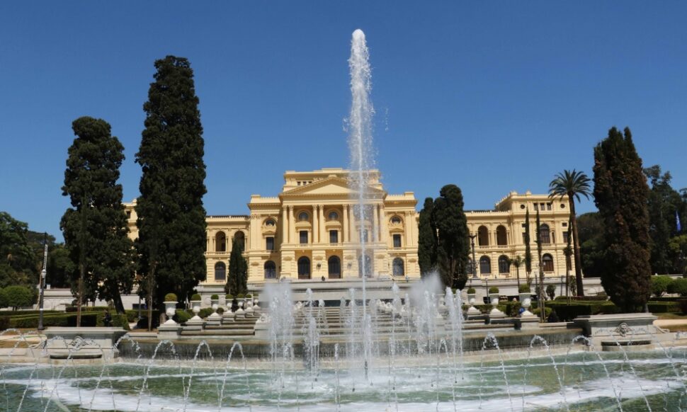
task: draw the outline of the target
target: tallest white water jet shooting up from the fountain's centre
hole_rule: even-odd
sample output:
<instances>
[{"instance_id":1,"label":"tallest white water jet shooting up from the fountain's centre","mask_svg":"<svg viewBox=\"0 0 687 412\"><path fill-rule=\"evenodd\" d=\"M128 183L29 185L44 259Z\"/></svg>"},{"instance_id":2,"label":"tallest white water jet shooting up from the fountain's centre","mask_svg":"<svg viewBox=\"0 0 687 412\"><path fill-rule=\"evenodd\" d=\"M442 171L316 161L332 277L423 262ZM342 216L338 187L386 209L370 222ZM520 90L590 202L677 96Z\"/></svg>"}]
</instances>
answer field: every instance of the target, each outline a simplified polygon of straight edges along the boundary
<instances>
[{"instance_id":1,"label":"tallest white water jet shooting up from the fountain's centre","mask_svg":"<svg viewBox=\"0 0 687 412\"><path fill-rule=\"evenodd\" d=\"M351 40L351 58L348 59L348 67L351 71L351 113L348 116L348 147L351 151L351 173L348 185L356 194L356 207L354 212L359 224L358 241L360 243L360 256L358 270L363 280L363 316L360 324L370 327L370 315L367 311L367 291L365 290L366 278L371 275L373 258L368 261L367 248L368 236L365 230L365 222L368 221L370 170L373 168L372 155L372 118L375 113L370 91L372 90L372 76L370 70L370 54L365 42L363 30L353 32ZM373 236L377 229L373 228ZM371 365L371 348L368 347L368 339L363 338L363 365L367 376L368 365Z\"/></svg>"}]
</instances>

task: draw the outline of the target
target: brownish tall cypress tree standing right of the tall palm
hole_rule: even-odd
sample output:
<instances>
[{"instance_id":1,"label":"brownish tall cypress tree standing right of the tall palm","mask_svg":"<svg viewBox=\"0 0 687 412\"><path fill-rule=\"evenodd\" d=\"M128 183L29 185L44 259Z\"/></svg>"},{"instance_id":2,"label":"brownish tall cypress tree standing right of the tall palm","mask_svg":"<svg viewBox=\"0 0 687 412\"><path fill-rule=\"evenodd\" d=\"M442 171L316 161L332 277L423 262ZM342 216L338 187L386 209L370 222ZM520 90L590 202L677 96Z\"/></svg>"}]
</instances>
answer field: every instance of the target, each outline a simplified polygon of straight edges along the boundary
<instances>
[{"instance_id":1,"label":"brownish tall cypress tree standing right of the tall palm","mask_svg":"<svg viewBox=\"0 0 687 412\"><path fill-rule=\"evenodd\" d=\"M624 311L649 299L649 186L632 133L613 127L594 149L594 202L606 240L601 285Z\"/></svg>"}]
</instances>

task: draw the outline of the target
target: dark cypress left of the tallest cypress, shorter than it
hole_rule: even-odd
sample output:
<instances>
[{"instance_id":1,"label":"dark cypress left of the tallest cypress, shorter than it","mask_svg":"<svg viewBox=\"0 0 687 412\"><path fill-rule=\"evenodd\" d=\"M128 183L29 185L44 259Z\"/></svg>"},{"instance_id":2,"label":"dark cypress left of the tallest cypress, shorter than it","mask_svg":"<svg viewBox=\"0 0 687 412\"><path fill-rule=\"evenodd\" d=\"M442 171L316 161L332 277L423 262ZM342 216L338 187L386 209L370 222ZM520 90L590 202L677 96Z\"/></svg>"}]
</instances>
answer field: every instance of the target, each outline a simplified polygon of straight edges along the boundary
<instances>
[{"instance_id":1,"label":"dark cypress left of the tallest cypress, shorter than it","mask_svg":"<svg viewBox=\"0 0 687 412\"><path fill-rule=\"evenodd\" d=\"M72 207L64 212L60 227L64 243L77 265L72 292L76 295L76 326L81 324L81 304L96 296L112 299L123 313L121 294L133 283L132 244L127 238L122 185L117 183L124 147L110 135L110 125L100 119L79 118L72 123L74 143L69 147L62 195Z\"/></svg>"}]
</instances>

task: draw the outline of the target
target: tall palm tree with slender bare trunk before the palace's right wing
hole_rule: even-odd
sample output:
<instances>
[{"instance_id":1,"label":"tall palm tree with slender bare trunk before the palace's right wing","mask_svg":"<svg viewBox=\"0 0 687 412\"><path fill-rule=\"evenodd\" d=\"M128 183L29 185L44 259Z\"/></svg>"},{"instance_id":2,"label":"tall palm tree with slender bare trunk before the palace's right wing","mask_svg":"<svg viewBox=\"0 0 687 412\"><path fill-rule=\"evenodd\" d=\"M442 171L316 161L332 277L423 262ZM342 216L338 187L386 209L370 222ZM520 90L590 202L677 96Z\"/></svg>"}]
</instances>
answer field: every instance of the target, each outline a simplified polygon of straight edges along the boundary
<instances>
[{"instance_id":1,"label":"tall palm tree with slender bare trunk before the palace's right wing","mask_svg":"<svg viewBox=\"0 0 687 412\"><path fill-rule=\"evenodd\" d=\"M579 255L579 238L577 236L577 216L575 214L575 199L579 202L580 195L589 199L591 194L589 187L589 178L584 172L564 170L563 173L558 173L555 178L549 183L549 197L563 200L567 196L568 204L570 206L570 222L572 224L572 241L574 244L575 255L575 283L577 284L577 295L584 296L584 289L582 286L582 263Z\"/></svg>"}]
</instances>

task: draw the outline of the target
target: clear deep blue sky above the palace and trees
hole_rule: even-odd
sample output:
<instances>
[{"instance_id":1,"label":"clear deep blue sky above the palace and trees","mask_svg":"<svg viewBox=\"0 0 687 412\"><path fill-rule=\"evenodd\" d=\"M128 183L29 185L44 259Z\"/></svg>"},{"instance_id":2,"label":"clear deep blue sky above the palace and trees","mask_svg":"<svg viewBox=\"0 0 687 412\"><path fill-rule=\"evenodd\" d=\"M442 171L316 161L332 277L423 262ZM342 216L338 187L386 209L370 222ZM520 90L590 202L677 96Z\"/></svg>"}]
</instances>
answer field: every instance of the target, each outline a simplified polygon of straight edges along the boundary
<instances>
[{"instance_id":1,"label":"clear deep blue sky above the palace and trees","mask_svg":"<svg viewBox=\"0 0 687 412\"><path fill-rule=\"evenodd\" d=\"M72 120L110 122L137 196L154 59L188 57L205 128L209 214L244 214L286 170L346 166L351 33L373 65L377 164L419 202L470 209L589 173L608 128L687 186L684 1L13 1L0 4L0 210L59 234ZM142 4L146 3L146 4ZM594 209L584 202L582 212Z\"/></svg>"}]
</instances>

